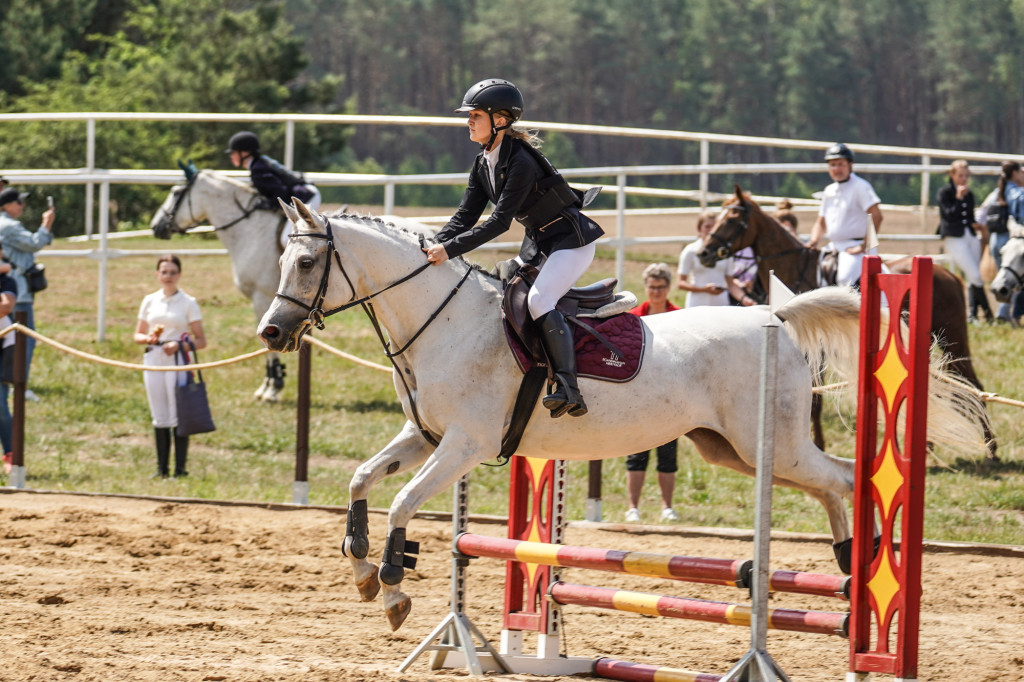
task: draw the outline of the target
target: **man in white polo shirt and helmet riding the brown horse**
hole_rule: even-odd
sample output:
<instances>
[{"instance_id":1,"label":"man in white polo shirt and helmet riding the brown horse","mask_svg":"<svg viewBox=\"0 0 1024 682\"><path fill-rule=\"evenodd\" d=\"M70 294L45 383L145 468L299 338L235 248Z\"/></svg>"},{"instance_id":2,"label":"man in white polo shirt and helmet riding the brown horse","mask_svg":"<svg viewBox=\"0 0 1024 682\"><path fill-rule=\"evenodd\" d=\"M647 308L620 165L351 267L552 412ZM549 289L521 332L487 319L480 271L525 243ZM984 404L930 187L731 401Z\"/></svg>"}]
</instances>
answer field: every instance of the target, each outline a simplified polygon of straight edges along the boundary
<instances>
[{"instance_id":1,"label":"man in white polo shirt and helmet riding the brown horse","mask_svg":"<svg viewBox=\"0 0 1024 682\"><path fill-rule=\"evenodd\" d=\"M834 182L822 193L821 209L807 246L816 249L821 238L827 237L829 248L839 253L836 284L853 287L860 282L867 216L876 232L882 227L881 200L871 183L853 172L853 152L846 144L837 142L828 147L825 161Z\"/></svg>"}]
</instances>

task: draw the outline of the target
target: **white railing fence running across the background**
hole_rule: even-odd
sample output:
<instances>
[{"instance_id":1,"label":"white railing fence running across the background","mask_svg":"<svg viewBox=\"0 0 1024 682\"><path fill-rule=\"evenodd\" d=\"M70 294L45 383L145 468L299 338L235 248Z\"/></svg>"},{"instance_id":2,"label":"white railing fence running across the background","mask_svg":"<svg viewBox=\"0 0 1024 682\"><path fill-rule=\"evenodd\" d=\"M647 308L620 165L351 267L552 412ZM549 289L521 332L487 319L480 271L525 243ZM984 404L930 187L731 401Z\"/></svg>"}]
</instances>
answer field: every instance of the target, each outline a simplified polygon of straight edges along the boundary
<instances>
[{"instance_id":1,"label":"white railing fence running across the background","mask_svg":"<svg viewBox=\"0 0 1024 682\"><path fill-rule=\"evenodd\" d=\"M108 246L110 235L110 190L112 184L158 184L172 185L181 181L181 173L176 170L104 170L95 167L95 150L97 124L104 122L144 122L144 121L177 121L203 123L276 123L285 127L284 162L293 165L295 156L296 124L317 125L354 125L354 126L416 126L416 127L462 127L465 125L460 118L413 117L413 116L362 116L362 115L316 115L316 114L172 114L172 113L18 113L0 114L0 129L4 124L17 122L62 122L82 123L85 125L85 154L82 168L77 169L0 169L12 183L32 184L82 184L85 185L85 233L93 237L93 214L98 214L98 248L90 251L58 251L42 252L43 257L87 257L99 262L99 287L97 291L97 338L103 340L105 327L105 297L108 261L111 258L125 256L150 255L152 252L113 250ZM580 182L581 179L614 177L614 184L601 186L615 197L615 209L593 211L595 216L614 216L615 228L613 236L602 240L602 246L615 249L615 270L620 281L623 280L626 260L626 249L644 244L682 243L691 238L628 238L626 233L626 217L628 215L650 215L653 213L692 213L707 208L709 202L724 198L723 195L709 190L709 178L717 174L735 173L818 173L821 164L779 163L779 164L713 164L711 163L711 145L743 145L762 147L781 147L791 150L821 151L830 144L824 140L799 140L773 137L755 137L749 135L726 135L717 133L700 133L679 130L656 130L646 128L629 128L618 126L593 126L545 121L523 121L522 125L531 129L556 131L586 135L607 135L613 137L634 137L662 139L670 142L696 142L699 145L697 164L656 165L656 166L600 166L589 168L566 168L561 173L575 180L579 186L593 186ZM972 151L935 150L925 147L901 147L882 144L849 145L860 155L886 155L918 159L918 163L882 164L858 162L858 170L868 173L890 173L920 175L921 202L913 206L889 205L886 211L918 212L922 226L929 219L928 206L931 197L930 177L933 173L943 173L947 167L944 164L933 164L933 159L967 159L982 163L994 163L994 166L980 165L973 170L980 175L998 174L998 165L1011 155L990 154ZM680 156L683 156L682 154ZM229 175L244 177L244 172L228 172ZM632 186L630 178L650 175L681 175L696 176L696 189L660 189L653 187ZM395 211L395 187L411 184L452 184L465 182L465 173L430 173L419 175L396 174L357 174L357 173L318 173L308 172L306 177L312 182L324 186L367 186L380 185L384 187L384 213ZM98 207L95 202L95 188L98 185ZM630 210L627 208L629 197L657 197L681 202L698 204L698 208ZM758 196L755 199L762 203L771 203L779 198ZM788 198L795 205L814 207L818 205L815 199ZM98 211L96 210L98 209ZM437 222L443 218L425 218L425 222ZM610 230L609 230L610 231ZM924 231L924 230L923 230ZM931 241L936 238L926 235L880 235L884 241ZM517 244L497 243L489 245L492 249L516 249ZM223 250L189 250L189 254L225 253Z\"/></svg>"}]
</instances>

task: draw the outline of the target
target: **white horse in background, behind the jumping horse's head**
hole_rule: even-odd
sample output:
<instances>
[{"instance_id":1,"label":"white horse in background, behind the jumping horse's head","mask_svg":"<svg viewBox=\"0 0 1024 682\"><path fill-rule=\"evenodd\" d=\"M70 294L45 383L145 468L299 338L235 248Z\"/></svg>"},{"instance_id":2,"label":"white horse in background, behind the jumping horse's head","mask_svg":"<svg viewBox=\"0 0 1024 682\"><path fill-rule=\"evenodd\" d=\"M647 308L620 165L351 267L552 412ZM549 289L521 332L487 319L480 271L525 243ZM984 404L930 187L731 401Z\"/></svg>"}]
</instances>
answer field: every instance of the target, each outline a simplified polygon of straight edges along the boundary
<instances>
[{"instance_id":1,"label":"white horse in background, behind the jumping horse's head","mask_svg":"<svg viewBox=\"0 0 1024 682\"><path fill-rule=\"evenodd\" d=\"M214 225L217 237L231 259L234 286L252 301L256 317L262 317L281 281L279 233L285 217L278 211L259 208L263 198L251 183L216 173L199 171L180 164L185 183L174 185L171 194L150 223L154 235L170 239L203 222ZM434 230L415 221L393 218L404 227L425 235ZM278 353L266 361L266 377L253 396L276 402L285 387L285 367Z\"/></svg>"}]
</instances>

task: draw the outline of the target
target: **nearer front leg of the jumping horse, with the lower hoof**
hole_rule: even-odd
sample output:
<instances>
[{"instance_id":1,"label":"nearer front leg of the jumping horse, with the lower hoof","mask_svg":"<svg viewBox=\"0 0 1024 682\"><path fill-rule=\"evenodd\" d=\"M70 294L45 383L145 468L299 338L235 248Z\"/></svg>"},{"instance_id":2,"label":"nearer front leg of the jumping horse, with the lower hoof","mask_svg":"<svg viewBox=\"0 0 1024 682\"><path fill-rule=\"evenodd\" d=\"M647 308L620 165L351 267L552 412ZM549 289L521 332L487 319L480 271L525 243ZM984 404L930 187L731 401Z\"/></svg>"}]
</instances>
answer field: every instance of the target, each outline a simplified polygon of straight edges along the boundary
<instances>
[{"instance_id":1,"label":"nearer front leg of the jumping horse, with the lower hoof","mask_svg":"<svg viewBox=\"0 0 1024 682\"><path fill-rule=\"evenodd\" d=\"M406 568L416 565L419 543L406 540L406 527L416 511L438 493L453 486L480 462L498 453L500 443L490 446L471 438L457 428L450 428L426 464L394 498L388 516L388 540L381 560L380 582L384 589L384 610L392 630L406 622L412 600L400 584ZM484 453L481 458L480 454Z\"/></svg>"}]
</instances>

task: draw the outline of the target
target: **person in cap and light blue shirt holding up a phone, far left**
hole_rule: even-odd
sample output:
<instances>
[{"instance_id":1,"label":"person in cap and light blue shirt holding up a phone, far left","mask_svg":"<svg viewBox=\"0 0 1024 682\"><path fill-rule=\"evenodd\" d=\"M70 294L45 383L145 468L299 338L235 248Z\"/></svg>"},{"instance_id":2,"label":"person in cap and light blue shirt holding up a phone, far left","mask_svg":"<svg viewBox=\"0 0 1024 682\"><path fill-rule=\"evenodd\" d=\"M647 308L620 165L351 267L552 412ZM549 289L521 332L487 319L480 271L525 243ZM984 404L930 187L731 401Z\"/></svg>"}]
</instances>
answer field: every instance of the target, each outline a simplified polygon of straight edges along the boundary
<instances>
[{"instance_id":1,"label":"person in cap and light blue shirt holding up a phone, far left","mask_svg":"<svg viewBox=\"0 0 1024 682\"><path fill-rule=\"evenodd\" d=\"M13 266L14 282L17 284L17 302L14 312L26 313L26 327L36 329L35 295L29 291L25 273L36 264L36 252L53 241L50 231L56 213L48 208L43 213L42 224L35 232L22 224L18 218L25 211L25 200L28 193L19 193L13 187L0 191L0 247ZM25 380L29 381L29 370L32 367L32 355L36 349L36 340L31 336L26 338ZM32 390L25 391L25 397L38 400L39 396Z\"/></svg>"}]
</instances>

